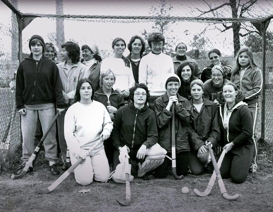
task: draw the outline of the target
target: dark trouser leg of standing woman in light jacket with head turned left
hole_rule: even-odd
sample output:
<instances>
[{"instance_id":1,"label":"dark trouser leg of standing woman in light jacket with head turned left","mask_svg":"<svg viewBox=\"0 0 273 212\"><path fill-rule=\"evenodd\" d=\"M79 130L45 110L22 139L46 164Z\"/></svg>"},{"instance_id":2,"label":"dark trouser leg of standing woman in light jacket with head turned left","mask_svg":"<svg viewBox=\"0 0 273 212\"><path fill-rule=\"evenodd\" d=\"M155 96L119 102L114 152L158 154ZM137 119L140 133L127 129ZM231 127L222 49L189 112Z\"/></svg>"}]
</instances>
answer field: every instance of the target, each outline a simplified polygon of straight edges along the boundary
<instances>
[{"instance_id":1,"label":"dark trouser leg of standing woman in light jacket with head turned left","mask_svg":"<svg viewBox=\"0 0 273 212\"><path fill-rule=\"evenodd\" d=\"M66 111L67 111L66 109L62 111L61 115L59 115L57 118L59 144L60 144L61 156L63 161L66 161L66 150L67 150L66 139L64 137L64 117L66 115Z\"/></svg>"}]
</instances>

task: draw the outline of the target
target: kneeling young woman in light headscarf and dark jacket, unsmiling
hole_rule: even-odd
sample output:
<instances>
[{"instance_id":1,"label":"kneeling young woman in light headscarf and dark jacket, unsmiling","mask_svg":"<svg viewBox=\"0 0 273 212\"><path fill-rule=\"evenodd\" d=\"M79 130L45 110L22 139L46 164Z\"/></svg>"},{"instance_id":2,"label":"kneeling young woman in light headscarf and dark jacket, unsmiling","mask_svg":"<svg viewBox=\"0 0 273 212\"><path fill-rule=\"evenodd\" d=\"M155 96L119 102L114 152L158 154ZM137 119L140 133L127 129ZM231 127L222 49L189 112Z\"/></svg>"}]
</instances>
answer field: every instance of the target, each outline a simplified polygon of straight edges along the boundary
<instances>
[{"instance_id":1,"label":"kneeling young woman in light headscarf and dark jacket, unsmiling","mask_svg":"<svg viewBox=\"0 0 273 212\"><path fill-rule=\"evenodd\" d=\"M204 84L200 79L190 83L192 99L190 104L193 107L193 126L198 134L197 141L192 145L190 152L189 169L192 174L198 175L207 167L211 161L208 145L216 148L220 139L220 126L218 120L218 109L214 102L205 99L203 96Z\"/></svg>"}]
</instances>

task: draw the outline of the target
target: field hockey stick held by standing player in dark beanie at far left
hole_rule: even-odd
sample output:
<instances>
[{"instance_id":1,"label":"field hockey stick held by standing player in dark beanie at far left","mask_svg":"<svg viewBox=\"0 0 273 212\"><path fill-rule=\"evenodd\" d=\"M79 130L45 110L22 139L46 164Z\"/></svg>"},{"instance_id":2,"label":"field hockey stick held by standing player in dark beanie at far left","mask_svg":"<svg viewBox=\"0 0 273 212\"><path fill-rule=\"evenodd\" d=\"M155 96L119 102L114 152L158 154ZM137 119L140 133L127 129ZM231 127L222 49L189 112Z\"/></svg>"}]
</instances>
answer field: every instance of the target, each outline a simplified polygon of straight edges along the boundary
<instances>
[{"instance_id":1,"label":"field hockey stick held by standing player in dark beanie at far left","mask_svg":"<svg viewBox=\"0 0 273 212\"><path fill-rule=\"evenodd\" d=\"M36 146L34 152L33 152L32 155L30 156L28 162L25 164L25 167L24 167L24 169L22 170L22 172L21 172L19 175L14 175L14 174L11 175L11 178L12 178L13 180L21 179L21 178L24 177L24 175L27 173L27 171L28 171L30 165L32 164L32 162L33 162L33 161L36 159L36 157L38 156L38 153L39 153L39 151L40 151L40 148L41 148L42 144L44 143L44 140L45 140L46 136L48 135L49 131L51 130L53 124L56 122L56 119L58 118L58 116L59 116L59 111L57 111L56 116L55 116L55 117L53 118L53 120L50 122L48 129L47 129L47 130L45 131L45 133L43 134L42 139L40 140L39 144Z\"/></svg>"}]
</instances>

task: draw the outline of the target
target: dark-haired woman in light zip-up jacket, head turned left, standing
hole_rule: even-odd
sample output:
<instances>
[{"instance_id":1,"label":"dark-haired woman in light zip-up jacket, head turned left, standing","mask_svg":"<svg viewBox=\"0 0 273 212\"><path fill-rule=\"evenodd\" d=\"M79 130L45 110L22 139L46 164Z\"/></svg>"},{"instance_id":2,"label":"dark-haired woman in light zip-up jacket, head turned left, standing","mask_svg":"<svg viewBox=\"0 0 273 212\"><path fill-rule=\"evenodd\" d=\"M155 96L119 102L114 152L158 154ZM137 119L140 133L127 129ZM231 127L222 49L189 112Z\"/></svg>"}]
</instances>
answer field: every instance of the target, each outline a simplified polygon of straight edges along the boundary
<instances>
[{"instance_id":1,"label":"dark-haired woman in light zip-up jacket, head turned left, standing","mask_svg":"<svg viewBox=\"0 0 273 212\"><path fill-rule=\"evenodd\" d=\"M76 86L80 79L87 77L87 68L80 61L80 48L75 42L65 42L61 45L62 52L60 56L64 62L57 64L60 72L60 78L62 83L62 94L65 99L66 109L68 109L75 100ZM69 153L67 153L67 145L64 137L64 118L65 114L62 113L58 119L58 133L59 133L59 144L62 154L62 160L64 161L64 166L62 170L67 170L69 168Z\"/></svg>"}]
</instances>

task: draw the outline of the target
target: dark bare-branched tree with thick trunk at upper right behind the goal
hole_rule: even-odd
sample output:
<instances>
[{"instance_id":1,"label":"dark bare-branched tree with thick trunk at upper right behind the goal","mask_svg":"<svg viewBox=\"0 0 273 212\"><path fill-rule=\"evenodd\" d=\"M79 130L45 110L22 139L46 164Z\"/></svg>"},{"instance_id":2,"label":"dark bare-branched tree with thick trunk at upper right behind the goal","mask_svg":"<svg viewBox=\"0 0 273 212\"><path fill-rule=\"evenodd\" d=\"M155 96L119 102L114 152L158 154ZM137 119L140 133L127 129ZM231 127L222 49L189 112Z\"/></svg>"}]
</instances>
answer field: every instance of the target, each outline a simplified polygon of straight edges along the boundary
<instances>
[{"instance_id":1,"label":"dark bare-branched tree with thick trunk at upper right behind the goal","mask_svg":"<svg viewBox=\"0 0 273 212\"><path fill-rule=\"evenodd\" d=\"M223 4L213 7L209 1L202 0L205 5L208 6L208 10L202 11L198 8L196 8L201 14L199 16L202 16L204 14L213 15L215 18L223 17L223 11L227 11L229 8L229 11L231 13L232 18L244 18L246 16L249 16L249 11L253 9L253 5L258 0L248 0L248 1L236 1L236 0L229 0L228 2L224 2ZM225 32L229 29L232 29L233 31L233 47L234 47L234 55L240 50L240 36L244 37L247 35L250 35L251 33L257 33L260 34L253 25L249 25L246 22L233 22L233 23L223 23L222 26L224 28L220 29L215 27L216 29L220 30L220 32ZM241 32L245 32L242 34Z\"/></svg>"}]
</instances>

